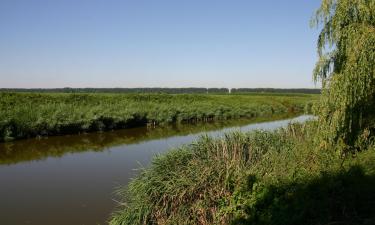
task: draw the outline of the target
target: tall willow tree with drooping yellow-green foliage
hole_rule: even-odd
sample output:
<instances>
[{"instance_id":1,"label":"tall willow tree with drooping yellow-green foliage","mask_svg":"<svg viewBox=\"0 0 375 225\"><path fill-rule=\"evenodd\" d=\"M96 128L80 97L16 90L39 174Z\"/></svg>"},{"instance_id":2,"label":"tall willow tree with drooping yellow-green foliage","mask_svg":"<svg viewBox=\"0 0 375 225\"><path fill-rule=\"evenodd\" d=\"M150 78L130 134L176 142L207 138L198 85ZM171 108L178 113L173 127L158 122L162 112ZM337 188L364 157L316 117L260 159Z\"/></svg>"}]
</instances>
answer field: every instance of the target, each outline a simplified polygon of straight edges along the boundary
<instances>
[{"instance_id":1,"label":"tall willow tree with drooping yellow-green foliage","mask_svg":"<svg viewBox=\"0 0 375 225\"><path fill-rule=\"evenodd\" d=\"M375 127L375 0L322 0L313 25L322 25L314 70L321 146L345 153Z\"/></svg>"}]
</instances>

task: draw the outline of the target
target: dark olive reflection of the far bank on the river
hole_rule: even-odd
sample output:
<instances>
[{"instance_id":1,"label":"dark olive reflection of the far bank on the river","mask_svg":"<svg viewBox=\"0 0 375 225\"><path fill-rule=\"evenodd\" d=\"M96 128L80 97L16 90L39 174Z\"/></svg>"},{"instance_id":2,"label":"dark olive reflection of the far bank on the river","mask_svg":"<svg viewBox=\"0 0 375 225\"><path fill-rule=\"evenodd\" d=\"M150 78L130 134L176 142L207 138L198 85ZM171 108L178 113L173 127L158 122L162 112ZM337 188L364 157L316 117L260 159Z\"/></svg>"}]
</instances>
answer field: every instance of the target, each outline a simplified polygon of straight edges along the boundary
<instances>
[{"instance_id":1,"label":"dark olive reflection of the far bank on the river","mask_svg":"<svg viewBox=\"0 0 375 225\"><path fill-rule=\"evenodd\" d=\"M149 140L185 136L201 132L239 127L250 123L281 120L296 116L286 114L275 117L228 120L221 122L183 124L156 128L131 128L102 133L89 133L41 139L19 140L0 143L0 164L10 165L23 161L43 160L48 157L62 157L68 153L104 151L124 144L137 144Z\"/></svg>"}]
</instances>

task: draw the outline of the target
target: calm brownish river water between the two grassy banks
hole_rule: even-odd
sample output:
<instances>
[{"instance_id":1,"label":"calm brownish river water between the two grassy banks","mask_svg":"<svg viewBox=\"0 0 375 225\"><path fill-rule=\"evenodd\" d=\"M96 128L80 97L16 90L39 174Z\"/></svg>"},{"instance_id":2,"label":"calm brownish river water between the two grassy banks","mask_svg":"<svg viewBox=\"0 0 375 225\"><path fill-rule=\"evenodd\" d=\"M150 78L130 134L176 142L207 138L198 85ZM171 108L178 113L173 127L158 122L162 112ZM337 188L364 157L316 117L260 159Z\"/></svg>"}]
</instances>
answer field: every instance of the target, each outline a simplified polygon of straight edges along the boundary
<instances>
[{"instance_id":1,"label":"calm brownish river water between the two grassy banks","mask_svg":"<svg viewBox=\"0 0 375 225\"><path fill-rule=\"evenodd\" d=\"M309 118L143 127L0 144L0 224L105 224L116 205L115 188L126 185L153 155L204 133L275 129Z\"/></svg>"}]
</instances>

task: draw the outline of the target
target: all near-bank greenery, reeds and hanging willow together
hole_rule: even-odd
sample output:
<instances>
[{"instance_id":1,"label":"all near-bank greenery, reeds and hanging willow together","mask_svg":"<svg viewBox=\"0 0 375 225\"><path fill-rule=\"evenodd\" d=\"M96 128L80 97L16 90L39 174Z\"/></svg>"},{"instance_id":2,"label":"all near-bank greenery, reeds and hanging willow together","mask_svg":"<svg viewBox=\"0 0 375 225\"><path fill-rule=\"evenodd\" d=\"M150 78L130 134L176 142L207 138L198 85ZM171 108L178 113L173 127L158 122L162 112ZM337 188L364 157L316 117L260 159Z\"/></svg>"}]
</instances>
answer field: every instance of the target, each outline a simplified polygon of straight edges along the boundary
<instances>
[{"instance_id":1,"label":"all near-bank greenery, reeds and hanging willow together","mask_svg":"<svg viewBox=\"0 0 375 225\"><path fill-rule=\"evenodd\" d=\"M375 1L323 0L317 22L317 121L158 156L110 224L375 224Z\"/></svg>"}]
</instances>

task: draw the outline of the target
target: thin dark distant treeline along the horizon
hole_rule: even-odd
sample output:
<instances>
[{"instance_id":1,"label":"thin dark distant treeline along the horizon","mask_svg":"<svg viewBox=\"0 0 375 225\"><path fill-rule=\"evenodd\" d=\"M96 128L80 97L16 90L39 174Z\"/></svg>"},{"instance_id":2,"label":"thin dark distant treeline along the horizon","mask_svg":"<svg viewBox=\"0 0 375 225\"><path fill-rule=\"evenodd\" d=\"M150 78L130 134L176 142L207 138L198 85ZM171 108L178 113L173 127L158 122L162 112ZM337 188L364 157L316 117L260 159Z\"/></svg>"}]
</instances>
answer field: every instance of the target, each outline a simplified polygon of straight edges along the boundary
<instances>
[{"instance_id":1,"label":"thin dark distant treeline along the horizon","mask_svg":"<svg viewBox=\"0 0 375 225\"><path fill-rule=\"evenodd\" d=\"M320 89L282 88L1 88L0 92L38 93L166 93L166 94L213 94L213 93L302 93L320 94Z\"/></svg>"}]
</instances>

